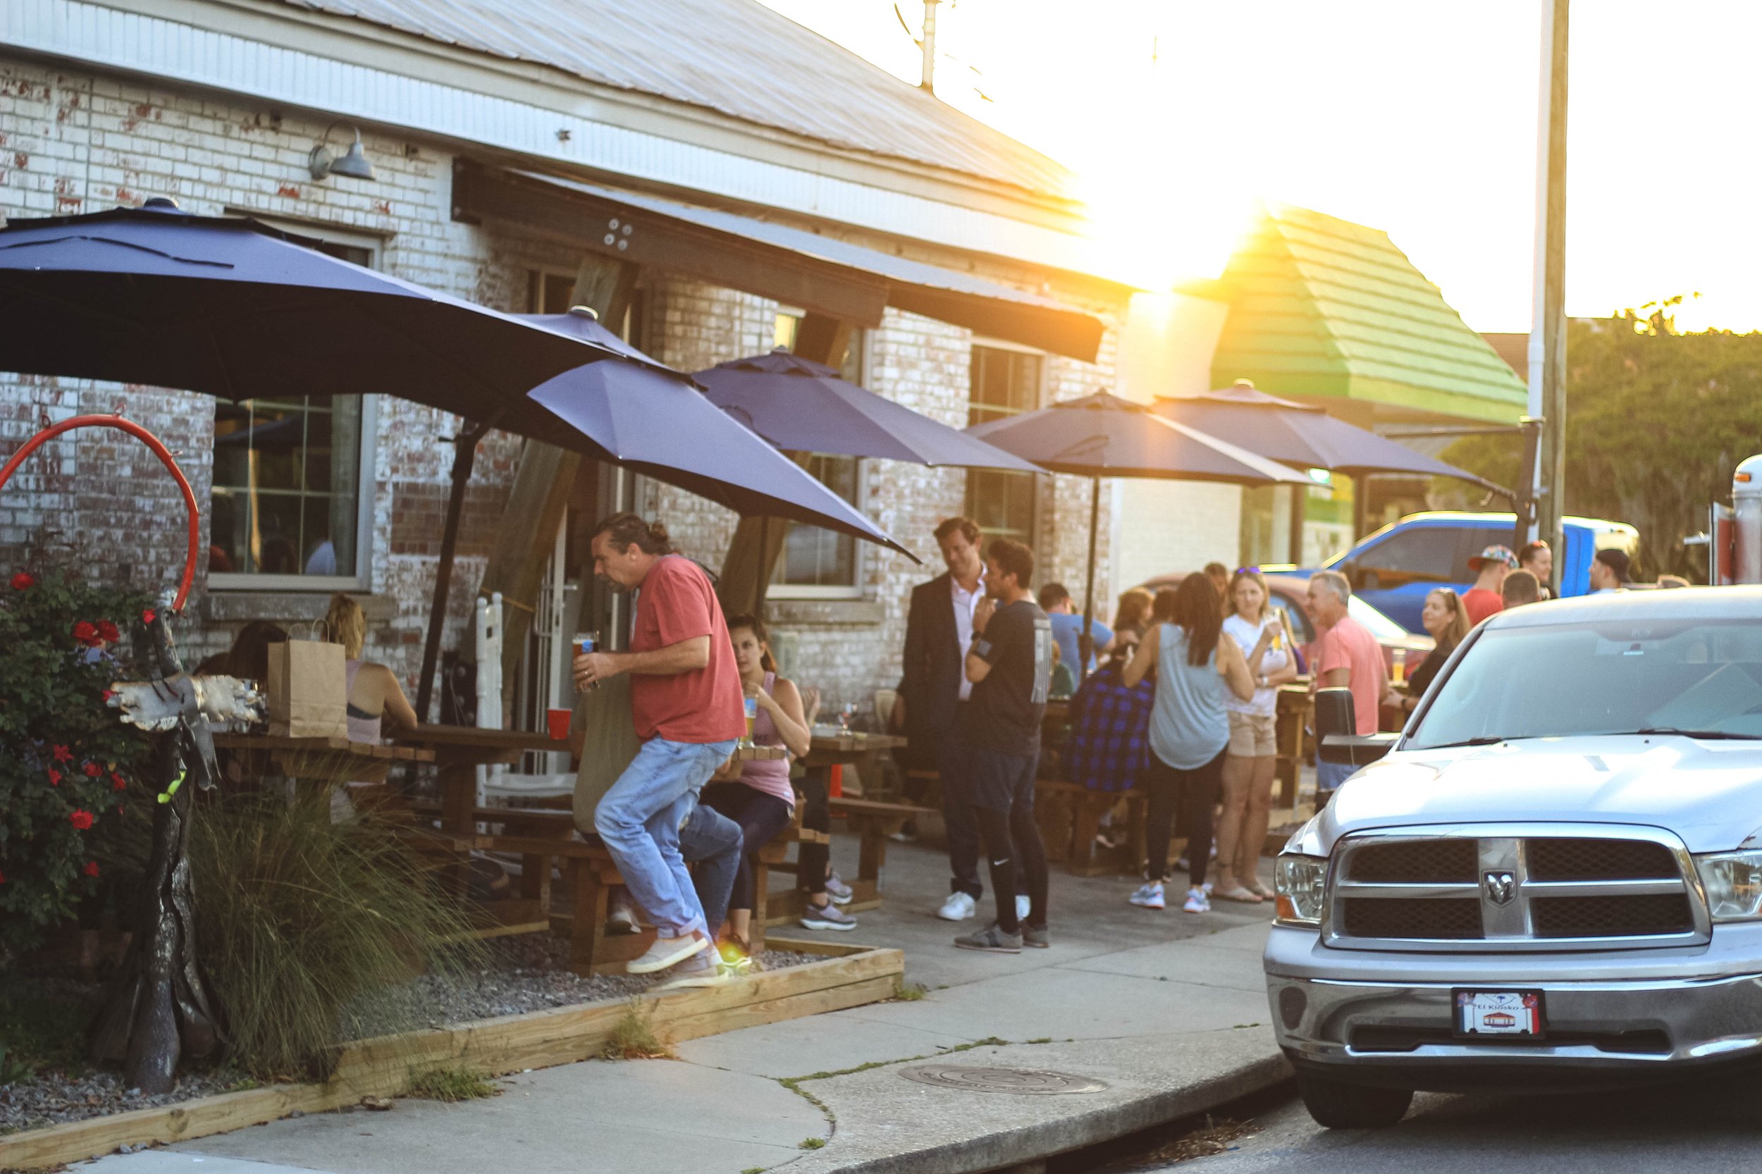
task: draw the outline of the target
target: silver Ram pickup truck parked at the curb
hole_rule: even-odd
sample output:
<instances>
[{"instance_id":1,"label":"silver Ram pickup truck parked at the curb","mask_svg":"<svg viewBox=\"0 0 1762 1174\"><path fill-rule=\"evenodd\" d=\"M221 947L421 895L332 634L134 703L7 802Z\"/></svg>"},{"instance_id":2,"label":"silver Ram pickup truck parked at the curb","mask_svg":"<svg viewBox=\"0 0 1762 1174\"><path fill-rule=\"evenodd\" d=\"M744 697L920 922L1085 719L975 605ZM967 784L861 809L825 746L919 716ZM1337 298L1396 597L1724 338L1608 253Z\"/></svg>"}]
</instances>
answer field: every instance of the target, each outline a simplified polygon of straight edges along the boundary
<instances>
[{"instance_id":1,"label":"silver Ram pickup truck parked at the curb","mask_svg":"<svg viewBox=\"0 0 1762 1174\"><path fill-rule=\"evenodd\" d=\"M1762 589L1505 612L1403 733L1351 728L1323 691L1369 765L1279 855L1265 952L1318 1123L1762 1059Z\"/></svg>"}]
</instances>

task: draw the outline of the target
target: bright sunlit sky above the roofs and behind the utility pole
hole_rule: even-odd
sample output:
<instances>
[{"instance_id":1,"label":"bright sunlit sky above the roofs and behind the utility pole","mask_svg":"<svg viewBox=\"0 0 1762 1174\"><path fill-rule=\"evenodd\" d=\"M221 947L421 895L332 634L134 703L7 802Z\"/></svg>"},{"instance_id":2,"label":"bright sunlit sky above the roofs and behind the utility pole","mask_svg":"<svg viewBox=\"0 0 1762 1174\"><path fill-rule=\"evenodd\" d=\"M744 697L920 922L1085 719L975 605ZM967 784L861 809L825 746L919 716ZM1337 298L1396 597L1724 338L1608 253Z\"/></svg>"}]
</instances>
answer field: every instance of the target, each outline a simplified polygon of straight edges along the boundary
<instances>
[{"instance_id":1,"label":"bright sunlit sky above the roofs and behind the utility pole","mask_svg":"<svg viewBox=\"0 0 1762 1174\"><path fill-rule=\"evenodd\" d=\"M765 4L918 79L892 0ZM1526 331L1540 26L1540 0L944 0L937 95L1077 169L1103 247L1158 277L1216 275L1272 199L1385 229L1470 326ZM1573 4L1568 314L1699 291L1684 328L1762 330L1758 44L1757 0Z\"/></svg>"}]
</instances>

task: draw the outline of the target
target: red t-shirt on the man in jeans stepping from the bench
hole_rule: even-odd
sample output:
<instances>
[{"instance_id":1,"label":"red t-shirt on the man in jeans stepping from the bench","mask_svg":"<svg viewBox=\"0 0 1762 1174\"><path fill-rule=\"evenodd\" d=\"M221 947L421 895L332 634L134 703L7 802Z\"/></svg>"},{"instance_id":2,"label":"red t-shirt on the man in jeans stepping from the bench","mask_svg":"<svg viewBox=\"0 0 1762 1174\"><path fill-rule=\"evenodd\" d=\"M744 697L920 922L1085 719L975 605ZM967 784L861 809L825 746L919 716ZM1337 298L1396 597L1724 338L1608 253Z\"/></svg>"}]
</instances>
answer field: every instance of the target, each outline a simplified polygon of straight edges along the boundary
<instances>
[{"instance_id":1,"label":"red t-shirt on the man in jeans stepping from the bench","mask_svg":"<svg viewBox=\"0 0 1762 1174\"><path fill-rule=\"evenodd\" d=\"M670 677L631 673L636 737L668 742L731 742L747 732L735 645L710 576L691 559L666 555L636 598L631 652L654 652L694 636L710 638L710 663Z\"/></svg>"}]
</instances>

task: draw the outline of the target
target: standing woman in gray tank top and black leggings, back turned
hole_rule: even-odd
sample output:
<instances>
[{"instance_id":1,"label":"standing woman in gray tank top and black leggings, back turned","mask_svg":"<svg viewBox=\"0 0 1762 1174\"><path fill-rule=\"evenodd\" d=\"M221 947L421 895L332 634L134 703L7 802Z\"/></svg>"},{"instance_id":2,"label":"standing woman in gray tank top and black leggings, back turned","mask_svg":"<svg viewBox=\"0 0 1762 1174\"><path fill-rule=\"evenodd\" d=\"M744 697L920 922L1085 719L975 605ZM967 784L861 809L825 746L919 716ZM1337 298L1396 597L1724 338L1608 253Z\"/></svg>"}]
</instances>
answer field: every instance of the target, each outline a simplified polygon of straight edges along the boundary
<instances>
[{"instance_id":1,"label":"standing woman in gray tank top and black leggings, back turned","mask_svg":"<svg viewBox=\"0 0 1762 1174\"><path fill-rule=\"evenodd\" d=\"M1209 913L1205 866L1210 860L1212 807L1223 779L1223 756L1230 744L1225 696L1244 702L1255 696L1255 679L1235 640L1219 640L1223 615L1218 592L1203 575L1188 575L1179 591L1156 596L1158 620L1138 643L1126 666L1126 687L1156 673L1156 703L1151 709L1149 874L1131 903L1145 910L1165 908L1163 871L1168 867L1170 818L1182 806L1191 876L1188 913Z\"/></svg>"}]
</instances>

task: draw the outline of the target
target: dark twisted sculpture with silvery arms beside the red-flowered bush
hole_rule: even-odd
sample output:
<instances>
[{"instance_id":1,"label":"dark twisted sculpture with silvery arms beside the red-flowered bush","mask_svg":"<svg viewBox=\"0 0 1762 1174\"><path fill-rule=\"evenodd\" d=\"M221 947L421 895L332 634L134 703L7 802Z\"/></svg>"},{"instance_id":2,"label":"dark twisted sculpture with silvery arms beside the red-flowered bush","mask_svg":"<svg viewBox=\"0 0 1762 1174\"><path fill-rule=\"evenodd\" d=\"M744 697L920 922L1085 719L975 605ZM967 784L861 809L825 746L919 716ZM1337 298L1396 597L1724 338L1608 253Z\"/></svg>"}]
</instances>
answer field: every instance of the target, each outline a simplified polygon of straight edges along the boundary
<instances>
[{"instance_id":1,"label":"dark twisted sculpture with silvery arms beside the red-flowered bush","mask_svg":"<svg viewBox=\"0 0 1762 1174\"><path fill-rule=\"evenodd\" d=\"M132 726L159 733L153 779L153 846L134 918L134 940L92 1035L97 1059L120 1059L130 1088L167 1093L178 1059L208 1056L220 1044L201 970L196 964L196 910L190 887L190 800L218 779L210 726L241 728L263 719L263 696L234 677L183 672L167 606L148 622L155 679L111 686L111 705Z\"/></svg>"}]
</instances>

